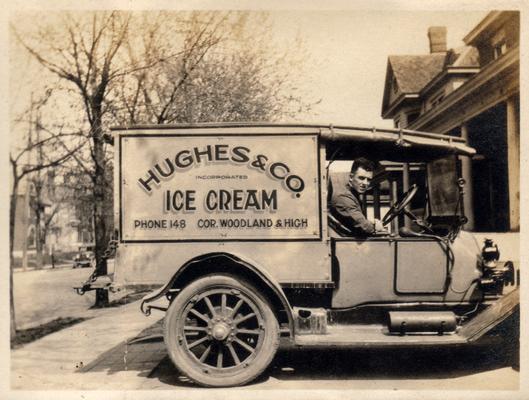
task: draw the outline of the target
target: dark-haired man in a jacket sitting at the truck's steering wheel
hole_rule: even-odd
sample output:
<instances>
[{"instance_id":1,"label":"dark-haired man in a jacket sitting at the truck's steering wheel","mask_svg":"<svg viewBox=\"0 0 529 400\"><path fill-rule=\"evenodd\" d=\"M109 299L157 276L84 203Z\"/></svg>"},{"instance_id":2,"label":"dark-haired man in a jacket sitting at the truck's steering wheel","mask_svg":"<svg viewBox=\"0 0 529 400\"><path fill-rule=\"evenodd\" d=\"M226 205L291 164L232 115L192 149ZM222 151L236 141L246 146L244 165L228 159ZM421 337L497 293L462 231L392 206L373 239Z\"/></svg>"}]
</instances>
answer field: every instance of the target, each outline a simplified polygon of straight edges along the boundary
<instances>
[{"instance_id":1,"label":"dark-haired man in a jacket sitting at the truck's steering wheel","mask_svg":"<svg viewBox=\"0 0 529 400\"><path fill-rule=\"evenodd\" d=\"M370 189L375 164L366 159L353 161L349 181L344 188L334 190L331 197L331 214L355 236L368 236L386 232L378 219L370 221L360 195Z\"/></svg>"}]
</instances>

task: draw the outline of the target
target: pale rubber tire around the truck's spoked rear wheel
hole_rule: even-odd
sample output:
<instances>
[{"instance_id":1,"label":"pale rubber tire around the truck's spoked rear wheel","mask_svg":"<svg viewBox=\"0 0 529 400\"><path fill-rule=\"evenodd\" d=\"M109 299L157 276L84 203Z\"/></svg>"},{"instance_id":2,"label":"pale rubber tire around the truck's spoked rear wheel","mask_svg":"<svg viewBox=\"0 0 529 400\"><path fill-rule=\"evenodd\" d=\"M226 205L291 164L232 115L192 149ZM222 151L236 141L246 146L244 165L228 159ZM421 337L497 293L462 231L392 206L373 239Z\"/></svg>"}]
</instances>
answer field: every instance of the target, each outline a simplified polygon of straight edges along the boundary
<instances>
[{"instance_id":1,"label":"pale rubber tire around the truck's spoked rear wheel","mask_svg":"<svg viewBox=\"0 0 529 400\"><path fill-rule=\"evenodd\" d=\"M189 300L211 288L227 286L240 290L251 299L261 312L265 336L262 348L248 367L236 374L215 376L204 373L190 360L187 351L178 345L176 324ZM165 316L164 341L176 368L195 383L206 387L244 385L257 378L272 362L279 347L279 325L266 298L251 283L228 274L201 277L186 286L169 306Z\"/></svg>"}]
</instances>

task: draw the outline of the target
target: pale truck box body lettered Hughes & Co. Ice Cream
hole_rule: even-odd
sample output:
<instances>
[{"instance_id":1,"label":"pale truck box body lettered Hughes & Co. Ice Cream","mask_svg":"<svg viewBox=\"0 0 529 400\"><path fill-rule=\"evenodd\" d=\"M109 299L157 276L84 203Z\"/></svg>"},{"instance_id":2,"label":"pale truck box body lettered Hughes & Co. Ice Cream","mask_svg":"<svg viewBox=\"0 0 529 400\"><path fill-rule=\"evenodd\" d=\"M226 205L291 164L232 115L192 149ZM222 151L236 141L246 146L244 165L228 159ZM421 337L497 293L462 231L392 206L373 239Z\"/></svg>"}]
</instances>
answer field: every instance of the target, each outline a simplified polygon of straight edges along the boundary
<instances>
[{"instance_id":1,"label":"pale truck box body lettered Hughes & Co. Ice Cream","mask_svg":"<svg viewBox=\"0 0 529 400\"><path fill-rule=\"evenodd\" d=\"M164 284L213 252L278 283L330 282L317 130L118 130L115 147L117 286Z\"/></svg>"}]
</instances>

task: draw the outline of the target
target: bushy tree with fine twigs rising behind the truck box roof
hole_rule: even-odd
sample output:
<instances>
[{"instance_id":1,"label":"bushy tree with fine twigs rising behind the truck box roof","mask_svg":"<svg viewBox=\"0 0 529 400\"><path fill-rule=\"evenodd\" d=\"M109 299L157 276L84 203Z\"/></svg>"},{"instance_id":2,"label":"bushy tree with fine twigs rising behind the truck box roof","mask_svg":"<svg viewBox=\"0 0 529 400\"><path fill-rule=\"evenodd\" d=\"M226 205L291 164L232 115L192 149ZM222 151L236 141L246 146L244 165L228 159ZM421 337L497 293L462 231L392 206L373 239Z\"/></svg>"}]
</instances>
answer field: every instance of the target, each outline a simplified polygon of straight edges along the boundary
<instances>
[{"instance_id":1,"label":"bushy tree with fine twigs rising behind the truck box roof","mask_svg":"<svg viewBox=\"0 0 529 400\"><path fill-rule=\"evenodd\" d=\"M116 87L112 112L118 123L277 120L316 103L297 93L293 79L306 57L302 45L277 49L265 14L192 13L188 26L178 56ZM141 33L145 51L157 53L152 31ZM128 49L133 62L135 49Z\"/></svg>"}]
</instances>

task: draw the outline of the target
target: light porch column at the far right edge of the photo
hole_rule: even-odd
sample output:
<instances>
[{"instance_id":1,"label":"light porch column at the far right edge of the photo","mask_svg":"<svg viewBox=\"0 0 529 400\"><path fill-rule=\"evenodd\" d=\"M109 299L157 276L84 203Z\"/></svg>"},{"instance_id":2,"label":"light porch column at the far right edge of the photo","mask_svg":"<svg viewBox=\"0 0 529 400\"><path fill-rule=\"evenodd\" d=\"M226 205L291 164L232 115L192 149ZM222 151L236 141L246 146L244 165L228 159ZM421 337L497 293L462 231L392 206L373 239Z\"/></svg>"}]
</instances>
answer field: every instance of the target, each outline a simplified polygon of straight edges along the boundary
<instances>
[{"instance_id":1,"label":"light porch column at the far right edge of the photo","mask_svg":"<svg viewBox=\"0 0 529 400\"><path fill-rule=\"evenodd\" d=\"M509 171L509 227L520 230L520 126L516 96L507 99L507 166Z\"/></svg>"}]
</instances>

